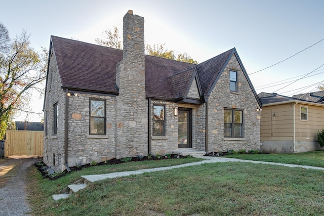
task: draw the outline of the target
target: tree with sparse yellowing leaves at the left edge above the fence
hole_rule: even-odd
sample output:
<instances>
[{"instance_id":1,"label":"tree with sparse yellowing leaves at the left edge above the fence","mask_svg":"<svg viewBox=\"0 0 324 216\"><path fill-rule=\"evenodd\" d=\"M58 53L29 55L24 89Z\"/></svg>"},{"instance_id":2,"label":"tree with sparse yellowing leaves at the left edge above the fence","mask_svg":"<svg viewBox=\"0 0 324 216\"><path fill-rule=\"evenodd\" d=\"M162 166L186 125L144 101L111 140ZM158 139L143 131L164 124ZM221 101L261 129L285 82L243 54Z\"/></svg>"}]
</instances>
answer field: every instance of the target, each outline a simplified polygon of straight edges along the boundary
<instances>
[{"instance_id":1,"label":"tree with sparse yellowing leaves at the left edge above the fence","mask_svg":"<svg viewBox=\"0 0 324 216\"><path fill-rule=\"evenodd\" d=\"M13 41L8 30L0 25L0 139L17 110L28 105L31 90L41 90L46 78L46 58L30 47L30 35L22 31ZM7 43L7 44L6 44ZM45 51L46 52L46 51ZM43 56L44 57L44 56Z\"/></svg>"}]
</instances>

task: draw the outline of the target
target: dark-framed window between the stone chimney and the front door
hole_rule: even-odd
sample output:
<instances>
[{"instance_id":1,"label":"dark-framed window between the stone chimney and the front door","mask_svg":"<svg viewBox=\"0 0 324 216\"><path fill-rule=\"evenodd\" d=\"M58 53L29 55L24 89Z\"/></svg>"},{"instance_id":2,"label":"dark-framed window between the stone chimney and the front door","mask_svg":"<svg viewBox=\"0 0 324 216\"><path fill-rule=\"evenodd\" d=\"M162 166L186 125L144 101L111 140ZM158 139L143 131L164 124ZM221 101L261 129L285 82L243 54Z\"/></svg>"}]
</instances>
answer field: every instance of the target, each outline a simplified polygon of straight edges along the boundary
<instances>
[{"instance_id":1,"label":"dark-framed window between the stone chimney and the front door","mask_svg":"<svg viewBox=\"0 0 324 216\"><path fill-rule=\"evenodd\" d=\"M153 105L153 136L165 136L165 106Z\"/></svg>"}]
</instances>

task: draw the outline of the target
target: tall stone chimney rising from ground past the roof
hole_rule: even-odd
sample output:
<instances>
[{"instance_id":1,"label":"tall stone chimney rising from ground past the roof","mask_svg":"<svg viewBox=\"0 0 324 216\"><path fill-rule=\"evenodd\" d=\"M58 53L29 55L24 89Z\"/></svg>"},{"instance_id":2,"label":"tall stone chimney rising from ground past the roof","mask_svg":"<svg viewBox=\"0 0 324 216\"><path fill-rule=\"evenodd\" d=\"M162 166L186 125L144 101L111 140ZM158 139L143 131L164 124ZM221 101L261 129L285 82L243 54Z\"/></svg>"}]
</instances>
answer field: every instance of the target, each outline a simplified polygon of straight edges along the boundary
<instances>
[{"instance_id":1,"label":"tall stone chimney rising from ground past the roof","mask_svg":"<svg viewBox=\"0 0 324 216\"><path fill-rule=\"evenodd\" d=\"M129 10L123 19L123 60L117 64L116 157L147 155L144 18Z\"/></svg>"}]
</instances>

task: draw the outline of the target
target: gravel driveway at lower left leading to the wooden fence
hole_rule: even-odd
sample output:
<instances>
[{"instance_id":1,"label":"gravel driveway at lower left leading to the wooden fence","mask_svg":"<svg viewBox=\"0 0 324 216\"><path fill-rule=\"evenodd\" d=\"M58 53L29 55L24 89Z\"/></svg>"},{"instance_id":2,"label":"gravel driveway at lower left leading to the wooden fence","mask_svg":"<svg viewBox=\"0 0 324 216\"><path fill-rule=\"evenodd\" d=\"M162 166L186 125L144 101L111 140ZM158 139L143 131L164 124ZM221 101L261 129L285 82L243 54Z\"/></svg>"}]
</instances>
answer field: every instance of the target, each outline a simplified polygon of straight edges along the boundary
<instances>
[{"instance_id":1,"label":"gravel driveway at lower left leading to the wooden fence","mask_svg":"<svg viewBox=\"0 0 324 216\"><path fill-rule=\"evenodd\" d=\"M0 160L0 215L27 215L30 210L25 200L27 168L38 160L36 156Z\"/></svg>"}]
</instances>

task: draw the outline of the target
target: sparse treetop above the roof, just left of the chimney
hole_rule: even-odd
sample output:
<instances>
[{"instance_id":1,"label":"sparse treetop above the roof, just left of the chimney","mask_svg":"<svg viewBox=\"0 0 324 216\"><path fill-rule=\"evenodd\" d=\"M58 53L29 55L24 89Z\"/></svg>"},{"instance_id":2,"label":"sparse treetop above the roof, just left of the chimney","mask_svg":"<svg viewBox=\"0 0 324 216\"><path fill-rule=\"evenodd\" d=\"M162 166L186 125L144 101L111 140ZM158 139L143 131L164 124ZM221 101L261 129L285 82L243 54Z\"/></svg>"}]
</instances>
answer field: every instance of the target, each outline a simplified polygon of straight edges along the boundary
<instances>
[{"instance_id":1,"label":"sparse treetop above the roof, just left of the chimney","mask_svg":"<svg viewBox=\"0 0 324 216\"><path fill-rule=\"evenodd\" d=\"M110 29L106 29L104 32L102 32L102 36L103 39L98 37L96 39L98 45L121 49L121 41L117 27L113 27L113 32Z\"/></svg>"}]
</instances>

